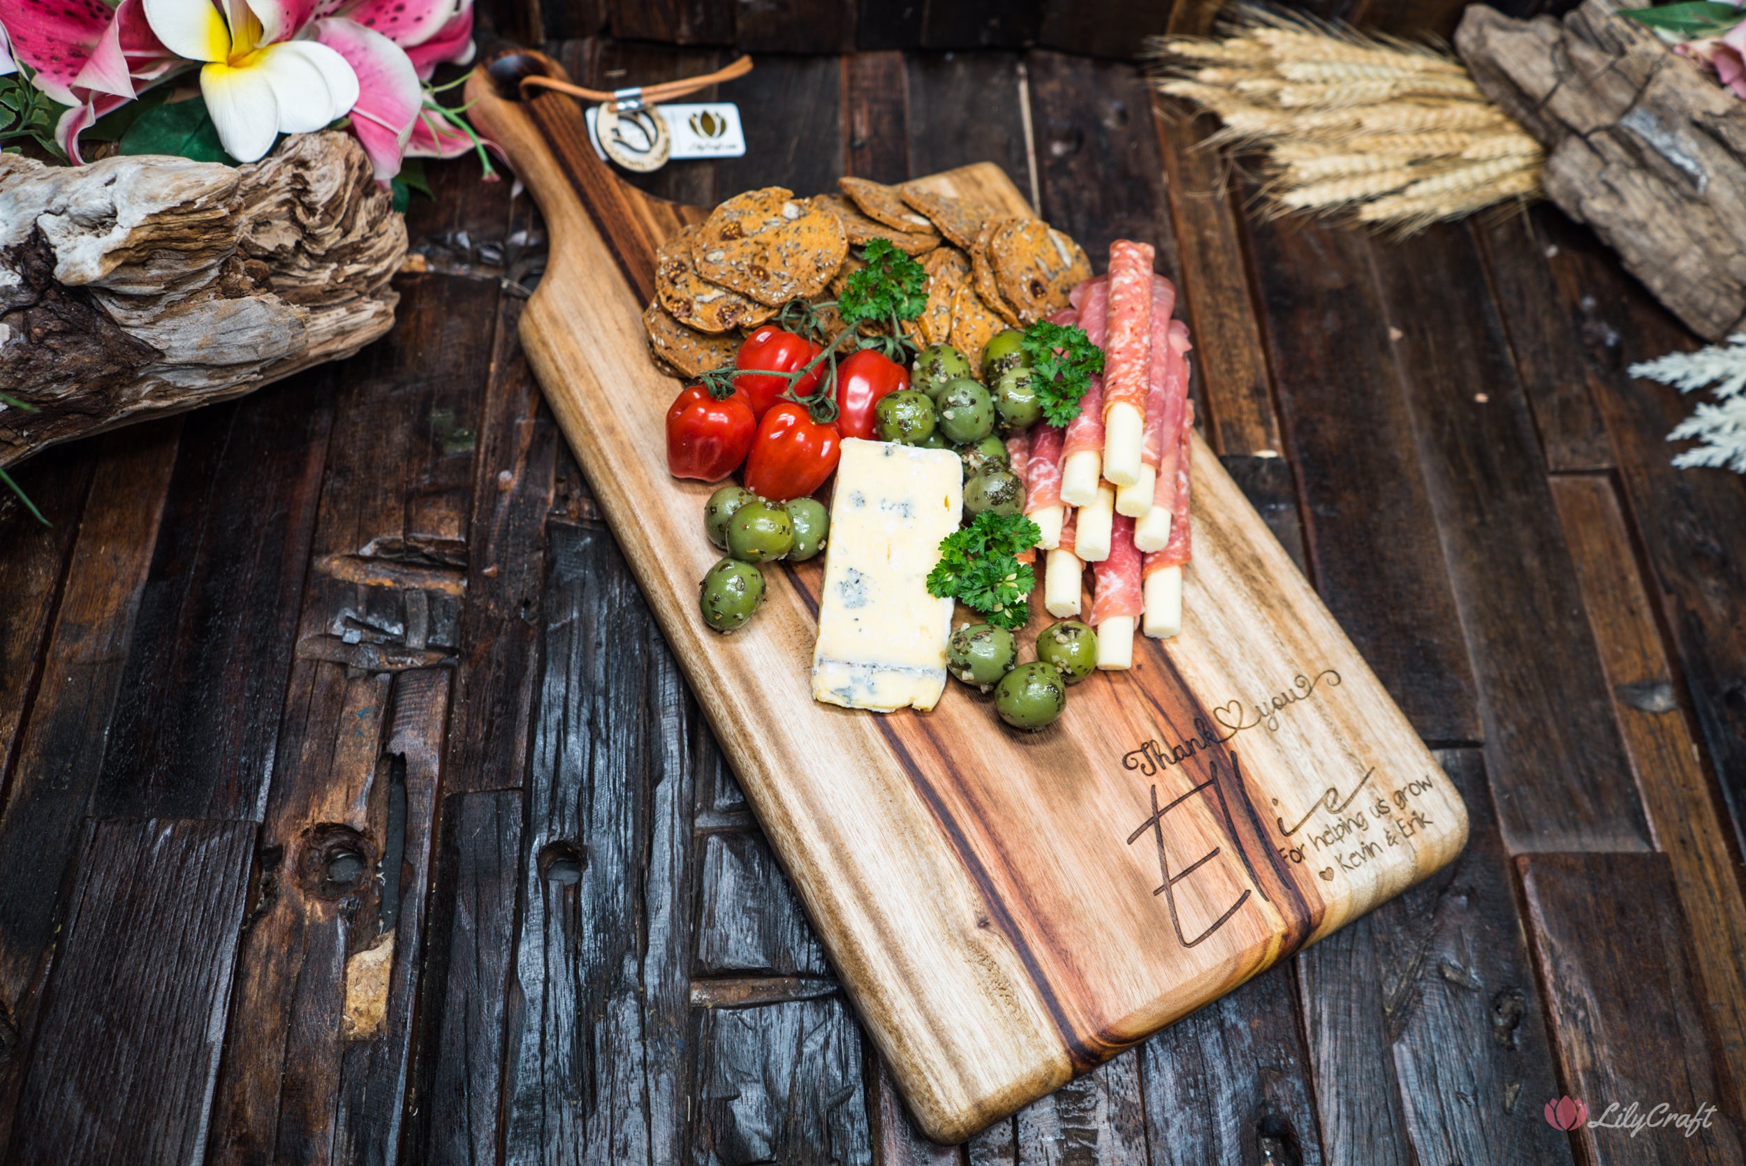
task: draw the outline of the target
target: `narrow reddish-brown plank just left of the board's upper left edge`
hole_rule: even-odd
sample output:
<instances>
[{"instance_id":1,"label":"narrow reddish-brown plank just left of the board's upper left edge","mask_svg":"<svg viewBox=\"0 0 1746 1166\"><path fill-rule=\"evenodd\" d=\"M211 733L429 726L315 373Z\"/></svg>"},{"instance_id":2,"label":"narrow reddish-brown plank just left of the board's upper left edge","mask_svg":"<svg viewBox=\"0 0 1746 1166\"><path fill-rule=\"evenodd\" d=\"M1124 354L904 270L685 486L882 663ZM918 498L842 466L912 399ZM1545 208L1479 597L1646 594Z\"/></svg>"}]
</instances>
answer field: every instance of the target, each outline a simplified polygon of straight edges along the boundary
<instances>
[{"instance_id":1,"label":"narrow reddish-brown plank just left of the board's upper left edge","mask_svg":"<svg viewBox=\"0 0 1746 1166\"><path fill-rule=\"evenodd\" d=\"M545 518L560 438L522 358L524 300L501 297L478 421L466 602L456 653L445 789L519 789L538 662Z\"/></svg>"}]
</instances>

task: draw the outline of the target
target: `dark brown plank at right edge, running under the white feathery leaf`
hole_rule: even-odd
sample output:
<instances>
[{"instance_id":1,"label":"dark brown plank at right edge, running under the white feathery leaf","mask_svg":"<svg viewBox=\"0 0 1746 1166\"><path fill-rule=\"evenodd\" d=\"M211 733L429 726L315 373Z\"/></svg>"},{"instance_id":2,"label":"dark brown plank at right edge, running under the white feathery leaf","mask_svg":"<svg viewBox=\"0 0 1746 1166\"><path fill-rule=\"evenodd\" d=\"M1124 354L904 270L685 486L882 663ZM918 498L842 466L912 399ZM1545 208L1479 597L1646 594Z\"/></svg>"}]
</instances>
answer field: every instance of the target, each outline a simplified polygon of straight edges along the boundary
<instances>
[{"instance_id":1,"label":"dark brown plank at right edge, running under the white feathery leaf","mask_svg":"<svg viewBox=\"0 0 1746 1166\"><path fill-rule=\"evenodd\" d=\"M1746 843L1746 482L1725 470L1676 470L1667 431L1690 398L1634 381L1633 363L1697 347L1619 260L1585 230L1571 230L1549 260L1564 311L1582 321L1596 394L1619 461L1626 515L1648 559L1662 625L1690 693L1702 742L1734 819L1736 852Z\"/></svg>"}]
</instances>

